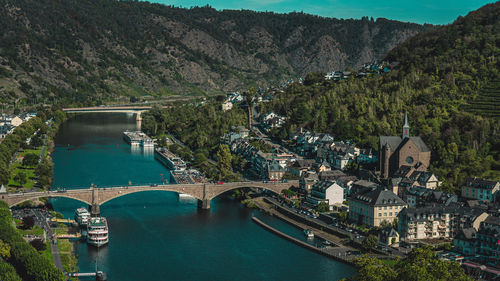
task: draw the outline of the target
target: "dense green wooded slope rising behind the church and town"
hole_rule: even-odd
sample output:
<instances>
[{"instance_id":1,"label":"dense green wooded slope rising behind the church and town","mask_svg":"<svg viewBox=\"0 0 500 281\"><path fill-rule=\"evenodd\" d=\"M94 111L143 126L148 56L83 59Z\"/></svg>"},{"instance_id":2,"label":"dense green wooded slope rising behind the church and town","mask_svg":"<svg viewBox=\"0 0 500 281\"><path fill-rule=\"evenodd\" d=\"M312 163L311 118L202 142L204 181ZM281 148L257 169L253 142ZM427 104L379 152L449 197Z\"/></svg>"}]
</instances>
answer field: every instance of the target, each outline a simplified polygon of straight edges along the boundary
<instances>
[{"instance_id":1,"label":"dense green wooded slope rising behind the church and town","mask_svg":"<svg viewBox=\"0 0 500 281\"><path fill-rule=\"evenodd\" d=\"M289 117L280 138L305 126L377 147L378 136L400 135L405 112L411 133L432 149L432 170L453 189L466 176L500 179L500 126L495 108L471 105L500 78L500 2L422 32L386 59L399 62L390 73L325 81L312 73L293 84L262 111ZM494 96L494 95L493 95ZM482 115L486 117L482 117Z\"/></svg>"}]
</instances>

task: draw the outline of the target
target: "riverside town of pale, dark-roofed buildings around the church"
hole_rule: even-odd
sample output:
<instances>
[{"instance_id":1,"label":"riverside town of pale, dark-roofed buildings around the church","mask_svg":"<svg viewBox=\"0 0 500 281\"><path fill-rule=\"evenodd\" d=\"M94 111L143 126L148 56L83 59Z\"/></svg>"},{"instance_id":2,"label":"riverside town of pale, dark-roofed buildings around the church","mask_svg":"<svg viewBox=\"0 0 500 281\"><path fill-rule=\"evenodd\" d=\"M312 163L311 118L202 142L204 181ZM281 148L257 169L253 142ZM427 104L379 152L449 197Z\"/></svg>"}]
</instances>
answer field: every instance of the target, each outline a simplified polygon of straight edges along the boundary
<instances>
[{"instance_id":1,"label":"riverside town of pale, dark-roofed buildings around the church","mask_svg":"<svg viewBox=\"0 0 500 281\"><path fill-rule=\"evenodd\" d=\"M231 101L243 98L229 94L222 109ZM357 238L375 235L376 248L387 253L426 245L441 249L441 258L460 262L473 276L497 278L500 182L467 178L460 194L441 190L442 181L429 171L432 151L411 135L409 120L405 114L401 135L380 136L377 148L303 128L275 144L265 133L286 118L269 112L252 130L233 128L221 142L248 161L250 177L299 179L299 186L282 196L311 218L321 214Z\"/></svg>"}]
</instances>

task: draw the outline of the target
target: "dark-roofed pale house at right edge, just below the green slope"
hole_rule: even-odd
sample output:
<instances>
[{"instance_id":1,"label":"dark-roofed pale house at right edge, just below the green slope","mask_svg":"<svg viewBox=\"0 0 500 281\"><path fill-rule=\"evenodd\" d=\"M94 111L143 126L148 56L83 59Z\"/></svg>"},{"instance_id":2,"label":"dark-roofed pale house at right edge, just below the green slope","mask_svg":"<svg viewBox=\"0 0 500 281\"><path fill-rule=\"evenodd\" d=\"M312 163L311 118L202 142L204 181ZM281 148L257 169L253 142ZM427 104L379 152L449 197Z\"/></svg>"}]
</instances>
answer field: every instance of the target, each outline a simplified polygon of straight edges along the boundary
<instances>
[{"instance_id":1,"label":"dark-roofed pale house at right edge, just below the green slope","mask_svg":"<svg viewBox=\"0 0 500 281\"><path fill-rule=\"evenodd\" d=\"M495 202L500 183L481 178L467 178L462 186L462 197Z\"/></svg>"}]
</instances>

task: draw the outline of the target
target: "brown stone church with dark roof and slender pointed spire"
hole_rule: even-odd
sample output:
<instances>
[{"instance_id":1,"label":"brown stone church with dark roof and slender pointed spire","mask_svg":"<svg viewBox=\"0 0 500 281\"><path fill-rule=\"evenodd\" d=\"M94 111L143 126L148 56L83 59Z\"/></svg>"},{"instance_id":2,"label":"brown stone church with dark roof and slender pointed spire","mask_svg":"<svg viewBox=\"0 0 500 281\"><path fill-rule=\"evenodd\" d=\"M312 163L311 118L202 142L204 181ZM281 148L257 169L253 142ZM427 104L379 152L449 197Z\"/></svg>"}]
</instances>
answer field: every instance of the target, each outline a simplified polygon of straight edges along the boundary
<instances>
[{"instance_id":1,"label":"brown stone church with dark roof and slender pointed spire","mask_svg":"<svg viewBox=\"0 0 500 281\"><path fill-rule=\"evenodd\" d=\"M411 166L426 171L431 161L431 151L420 137L410 137L408 115L405 114L403 134L381 136L379 146L380 174L391 177L401 166Z\"/></svg>"}]
</instances>

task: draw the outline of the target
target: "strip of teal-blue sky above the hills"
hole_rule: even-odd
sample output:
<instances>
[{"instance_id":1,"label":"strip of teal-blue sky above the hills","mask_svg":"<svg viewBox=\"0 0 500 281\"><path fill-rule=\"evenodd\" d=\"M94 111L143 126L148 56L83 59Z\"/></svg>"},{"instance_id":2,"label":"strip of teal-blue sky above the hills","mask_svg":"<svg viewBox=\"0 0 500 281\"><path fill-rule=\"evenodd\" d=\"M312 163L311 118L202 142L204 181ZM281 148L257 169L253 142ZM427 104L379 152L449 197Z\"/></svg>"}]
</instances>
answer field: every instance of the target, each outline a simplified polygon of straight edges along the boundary
<instances>
[{"instance_id":1,"label":"strip of teal-blue sky above the hills","mask_svg":"<svg viewBox=\"0 0 500 281\"><path fill-rule=\"evenodd\" d=\"M448 24L458 16L495 1L485 0L149 0L189 8L210 5L218 10L248 9L304 13L334 18L388 18L416 23Z\"/></svg>"}]
</instances>

